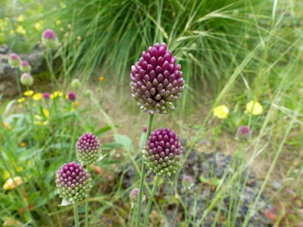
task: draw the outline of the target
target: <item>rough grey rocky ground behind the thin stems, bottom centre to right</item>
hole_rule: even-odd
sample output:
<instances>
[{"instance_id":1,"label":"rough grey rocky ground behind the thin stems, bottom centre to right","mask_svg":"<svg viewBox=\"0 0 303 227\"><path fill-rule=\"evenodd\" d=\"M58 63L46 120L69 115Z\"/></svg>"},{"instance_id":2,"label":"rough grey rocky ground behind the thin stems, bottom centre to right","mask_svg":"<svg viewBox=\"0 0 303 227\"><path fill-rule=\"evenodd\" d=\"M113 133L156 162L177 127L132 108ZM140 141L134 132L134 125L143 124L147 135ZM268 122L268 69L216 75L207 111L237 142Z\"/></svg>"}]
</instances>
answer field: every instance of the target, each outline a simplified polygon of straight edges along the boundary
<instances>
[{"instance_id":1,"label":"rough grey rocky ground behind the thin stems, bottom centre to right","mask_svg":"<svg viewBox=\"0 0 303 227\"><path fill-rule=\"evenodd\" d=\"M203 141L203 143L205 143L205 141ZM186 152L187 150L185 149L185 153ZM215 198L216 193L218 193L216 188L219 181L223 178L229 179L234 174L235 168L236 164L230 155L225 155L220 151L201 153L196 150L192 150L179 176L179 184L177 186L179 196L176 196L173 190L170 189L171 185L165 179L163 180L162 184L160 184L156 194L156 199L164 215L160 216L156 212L156 208L152 207L151 209L153 210L154 208L154 211L151 211L150 217L155 220L154 224L160 224L161 226L183 226L181 223L184 220L184 209L178 200L181 198L183 202L185 201L185 189L181 185L181 180L184 175L188 175L194 180L194 186L188 191L187 194L187 204L189 207L188 212L191 216L195 216L196 224L193 226L198 226L198 221L204 215L204 212L207 210L213 198ZM122 169L119 174L122 174ZM244 187L246 174L247 172L244 171L242 176L239 176L240 181L237 181L237 186L229 186L227 189L228 193L224 193L222 195L225 198L223 203L220 205L221 214L219 215L216 226L226 226L226 217L228 214L231 196L233 198L241 199L235 220L236 226L242 226L242 222L245 218L247 210L255 201L258 194L258 189L260 188L260 182L256 179L254 174L247 175L248 178L246 179ZM135 182L135 177L137 179L137 176L135 176L135 169L131 167L124 176L123 187L130 187L133 182ZM153 180L153 174L147 175L146 181L147 183L150 183L150 188L152 187L151 184L153 183ZM243 187L244 190L241 194ZM272 205L267 202L267 199L268 197L264 194L260 197L256 210L252 210L251 212L251 218L248 226L272 226L271 221L264 215L264 211L271 210L272 208ZM164 200L166 200L166 202L164 202ZM166 204L166 207L163 207L161 203ZM219 208L219 203L220 201L215 203L215 207L206 215L200 226L213 225L217 210ZM196 209L194 209L194 207L196 207ZM231 208L235 209L235 205L232 205Z\"/></svg>"}]
</instances>

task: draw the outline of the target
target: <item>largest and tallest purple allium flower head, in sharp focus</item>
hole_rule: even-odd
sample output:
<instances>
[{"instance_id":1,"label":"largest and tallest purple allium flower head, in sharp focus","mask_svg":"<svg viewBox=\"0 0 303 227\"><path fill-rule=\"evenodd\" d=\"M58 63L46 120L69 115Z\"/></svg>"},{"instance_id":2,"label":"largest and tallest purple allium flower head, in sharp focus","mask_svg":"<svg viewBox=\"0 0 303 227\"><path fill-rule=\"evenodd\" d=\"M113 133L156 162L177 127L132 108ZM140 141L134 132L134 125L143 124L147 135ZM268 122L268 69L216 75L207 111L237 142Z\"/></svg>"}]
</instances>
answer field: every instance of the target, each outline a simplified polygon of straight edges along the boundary
<instances>
[{"instance_id":1,"label":"largest and tallest purple allium flower head, in sharp focus","mask_svg":"<svg viewBox=\"0 0 303 227\"><path fill-rule=\"evenodd\" d=\"M150 114L166 114L174 110L172 102L181 97L184 89L181 65L167 45L156 43L143 51L139 61L131 67L130 83L132 97Z\"/></svg>"}]
</instances>

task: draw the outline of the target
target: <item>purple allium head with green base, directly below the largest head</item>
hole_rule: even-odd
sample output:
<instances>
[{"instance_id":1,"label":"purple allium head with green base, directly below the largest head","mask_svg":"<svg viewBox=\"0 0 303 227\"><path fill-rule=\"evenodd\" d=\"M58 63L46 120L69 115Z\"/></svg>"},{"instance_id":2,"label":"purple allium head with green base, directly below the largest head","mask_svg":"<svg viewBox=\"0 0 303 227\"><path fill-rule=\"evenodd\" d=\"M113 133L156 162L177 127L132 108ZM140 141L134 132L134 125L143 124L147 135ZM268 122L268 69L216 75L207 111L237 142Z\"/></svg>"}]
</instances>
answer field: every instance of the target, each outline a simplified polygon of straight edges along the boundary
<instances>
[{"instance_id":1,"label":"purple allium head with green base, directly below the largest head","mask_svg":"<svg viewBox=\"0 0 303 227\"><path fill-rule=\"evenodd\" d=\"M151 171L168 177L180 166L182 152L178 136L168 128L152 132L142 150L144 162Z\"/></svg>"}]
</instances>

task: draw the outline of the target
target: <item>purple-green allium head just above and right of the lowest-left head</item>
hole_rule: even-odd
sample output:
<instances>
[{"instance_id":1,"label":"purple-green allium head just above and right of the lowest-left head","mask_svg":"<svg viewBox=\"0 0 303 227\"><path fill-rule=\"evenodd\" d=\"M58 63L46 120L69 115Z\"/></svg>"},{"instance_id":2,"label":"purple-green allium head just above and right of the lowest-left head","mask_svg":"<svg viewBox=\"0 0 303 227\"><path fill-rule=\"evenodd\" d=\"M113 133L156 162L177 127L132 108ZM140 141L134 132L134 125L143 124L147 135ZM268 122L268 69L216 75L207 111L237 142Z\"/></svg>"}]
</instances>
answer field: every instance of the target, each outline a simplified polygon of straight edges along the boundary
<instances>
[{"instance_id":1,"label":"purple-green allium head just above and right of the lowest-left head","mask_svg":"<svg viewBox=\"0 0 303 227\"><path fill-rule=\"evenodd\" d=\"M101 156L101 144L92 133L85 133L76 143L76 155L81 164L95 163Z\"/></svg>"}]
</instances>

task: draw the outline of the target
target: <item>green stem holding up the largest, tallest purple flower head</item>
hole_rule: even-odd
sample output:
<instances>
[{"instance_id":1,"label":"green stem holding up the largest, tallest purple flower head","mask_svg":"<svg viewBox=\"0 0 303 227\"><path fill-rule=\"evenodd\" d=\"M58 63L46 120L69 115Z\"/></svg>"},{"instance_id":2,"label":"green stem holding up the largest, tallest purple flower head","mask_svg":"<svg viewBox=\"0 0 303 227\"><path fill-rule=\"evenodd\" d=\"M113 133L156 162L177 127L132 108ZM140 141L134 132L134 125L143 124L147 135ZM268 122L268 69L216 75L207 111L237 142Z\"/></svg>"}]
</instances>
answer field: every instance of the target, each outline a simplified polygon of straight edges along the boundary
<instances>
[{"instance_id":1,"label":"green stem holding up the largest, tallest purple flower head","mask_svg":"<svg viewBox=\"0 0 303 227\"><path fill-rule=\"evenodd\" d=\"M148 116L147 130L146 130L146 136L145 136L143 146L145 146L145 144L147 142L147 139L150 135L150 129L151 129L151 124L153 124L153 119L154 119L154 115L149 115ZM137 206L138 210L137 210L137 218L136 218L136 227L140 226L144 177L145 177L145 163L144 163L144 160L142 158L140 186L139 186L139 198L138 198L138 206ZM150 197L151 197L151 195L150 195Z\"/></svg>"}]
</instances>

